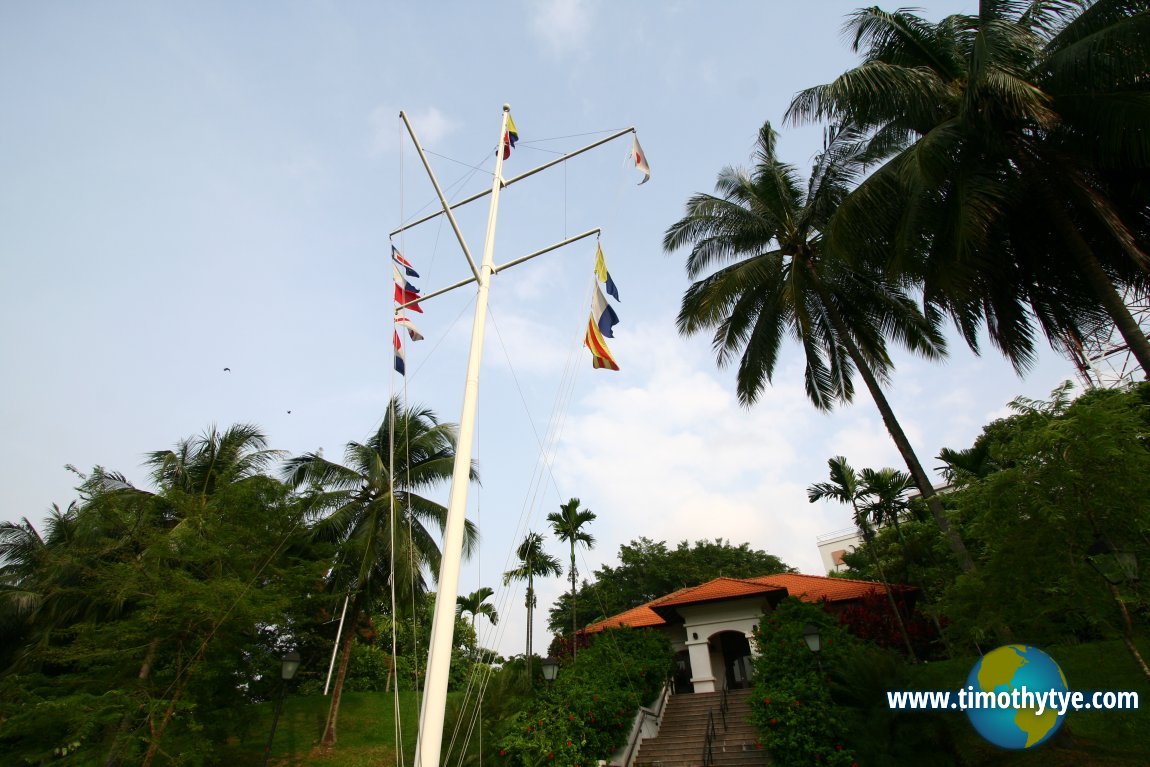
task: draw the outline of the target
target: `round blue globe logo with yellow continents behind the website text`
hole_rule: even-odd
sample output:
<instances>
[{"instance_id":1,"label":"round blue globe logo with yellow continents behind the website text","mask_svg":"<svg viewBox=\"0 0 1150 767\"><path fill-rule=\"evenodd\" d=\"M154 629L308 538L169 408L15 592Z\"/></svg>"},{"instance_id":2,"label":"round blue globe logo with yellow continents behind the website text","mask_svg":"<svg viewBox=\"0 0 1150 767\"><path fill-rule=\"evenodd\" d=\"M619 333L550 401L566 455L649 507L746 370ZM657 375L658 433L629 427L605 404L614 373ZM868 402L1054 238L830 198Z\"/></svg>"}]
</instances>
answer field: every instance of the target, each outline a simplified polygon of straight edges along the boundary
<instances>
[{"instance_id":1,"label":"round blue globe logo with yellow continents behind the website text","mask_svg":"<svg viewBox=\"0 0 1150 767\"><path fill-rule=\"evenodd\" d=\"M1038 714L1037 706L1022 700L1022 688L1032 693L1066 692L1063 669L1046 653L1023 644L1009 644L983 655L966 677L973 688L975 705L967 700L966 715L979 735L1003 749L1033 749L1049 741L1063 724L1065 714L1048 704ZM1015 693L1014 691L1019 692ZM988 696L994 693L995 703ZM1010 704L1004 706L1010 698Z\"/></svg>"}]
</instances>

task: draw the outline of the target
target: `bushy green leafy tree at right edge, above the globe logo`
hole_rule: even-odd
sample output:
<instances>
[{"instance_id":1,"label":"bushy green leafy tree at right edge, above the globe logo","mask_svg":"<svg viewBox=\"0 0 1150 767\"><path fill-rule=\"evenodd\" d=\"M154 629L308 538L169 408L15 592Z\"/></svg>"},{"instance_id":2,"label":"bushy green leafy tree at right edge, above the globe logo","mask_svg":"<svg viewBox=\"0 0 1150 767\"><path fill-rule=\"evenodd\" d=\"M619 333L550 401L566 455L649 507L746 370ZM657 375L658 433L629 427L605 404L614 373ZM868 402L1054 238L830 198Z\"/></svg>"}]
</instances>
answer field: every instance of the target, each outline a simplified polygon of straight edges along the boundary
<instances>
[{"instance_id":1,"label":"bushy green leafy tree at right edge, above the globe logo","mask_svg":"<svg viewBox=\"0 0 1150 767\"><path fill-rule=\"evenodd\" d=\"M1150 676L1133 643L1144 618L1127 608L1141 603L1140 584L1110 584L1088 560L1099 539L1150 555L1141 482L1150 471L1150 385L1092 391L1073 402L1066 393L1056 390L1046 402L1017 399L1015 414L984 431L1000 468L953 493L982 566L950 589L944 609L951 630L975 641L1005 620L1027 642L1117 635Z\"/></svg>"}]
</instances>

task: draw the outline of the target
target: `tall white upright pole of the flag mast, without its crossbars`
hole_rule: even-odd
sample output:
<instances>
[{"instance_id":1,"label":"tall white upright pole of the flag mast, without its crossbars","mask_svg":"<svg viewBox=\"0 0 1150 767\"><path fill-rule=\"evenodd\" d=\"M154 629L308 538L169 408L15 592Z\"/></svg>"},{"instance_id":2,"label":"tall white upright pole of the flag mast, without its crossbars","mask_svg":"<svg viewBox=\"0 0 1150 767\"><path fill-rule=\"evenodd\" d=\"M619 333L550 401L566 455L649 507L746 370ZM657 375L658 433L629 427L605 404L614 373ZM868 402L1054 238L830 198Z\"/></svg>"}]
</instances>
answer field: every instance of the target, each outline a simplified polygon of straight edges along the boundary
<instances>
[{"instance_id":1,"label":"tall white upright pole of the flag mast, without its crossbars","mask_svg":"<svg viewBox=\"0 0 1150 767\"><path fill-rule=\"evenodd\" d=\"M447 675L451 670L451 647L455 631L455 597L459 591L463 523L467 517L467 491L471 482L471 443L475 436L475 408L480 398L480 363L483 359L483 333L488 320L488 292L494 267L496 221L499 214L499 190L503 187L504 137L509 114L511 106L505 103L499 118L496 172L491 182L491 207L488 210L483 261L476 275L478 290L475 296L475 323L471 327L471 348L467 358L467 381L463 385L462 412L459 416L459 439L455 443L455 466L451 477L451 498L447 501L447 523L444 528L435 618L431 621L431 642L428 649L428 673L420 712L419 741L415 746L415 767L438 767L443 744ZM440 201L446 207L446 200L440 197Z\"/></svg>"}]
</instances>

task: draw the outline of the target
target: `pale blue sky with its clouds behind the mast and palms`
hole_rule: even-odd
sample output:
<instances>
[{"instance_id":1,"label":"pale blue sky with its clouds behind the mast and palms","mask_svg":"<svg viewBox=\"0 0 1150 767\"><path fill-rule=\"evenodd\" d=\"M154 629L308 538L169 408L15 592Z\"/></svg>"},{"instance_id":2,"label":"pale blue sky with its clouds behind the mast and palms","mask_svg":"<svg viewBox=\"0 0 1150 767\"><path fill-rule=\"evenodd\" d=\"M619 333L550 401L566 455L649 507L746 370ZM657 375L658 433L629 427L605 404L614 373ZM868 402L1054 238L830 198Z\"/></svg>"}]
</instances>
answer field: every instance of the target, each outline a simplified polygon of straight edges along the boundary
<instances>
[{"instance_id":1,"label":"pale blue sky with its clouds behind the mast and palms","mask_svg":"<svg viewBox=\"0 0 1150 767\"><path fill-rule=\"evenodd\" d=\"M818 573L814 537L849 515L805 488L831 455L898 454L865 397L829 415L806 402L793 347L761 402L738 407L710 339L675 332L688 281L660 243L688 197L749 161L765 120L808 167L821 126L782 114L852 66L839 30L857 5L3 3L0 514L67 505L66 463L143 483L146 451L212 423L338 457L392 392L458 420L470 291L427 306L409 375L391 373L388 233L434 209L397 115L459 199L490 185L509 102L521 143L505 176L634 125L652 178L636 186L618 140L503 195L496 262L603 228L622 370L592 371L580 348L593 240L496 278L469 509L484 546L461 590L499 586L523 531L570 497L599 515L584 573L639 536L745 540ZM973 2L923 5L938 17ZM460 213L476 258L486 214ZM468 274L438 222L398 243L424 291ZM1050 352L1020 379L994 350L954 343L945 366L899 358L889 393L933 466L1013 397L1070 377ZM540 612L562 589L539 585ZM497 604L505 620L484 642L521 652L521 591L500 588Z\"/></svg>"}]
</instances>

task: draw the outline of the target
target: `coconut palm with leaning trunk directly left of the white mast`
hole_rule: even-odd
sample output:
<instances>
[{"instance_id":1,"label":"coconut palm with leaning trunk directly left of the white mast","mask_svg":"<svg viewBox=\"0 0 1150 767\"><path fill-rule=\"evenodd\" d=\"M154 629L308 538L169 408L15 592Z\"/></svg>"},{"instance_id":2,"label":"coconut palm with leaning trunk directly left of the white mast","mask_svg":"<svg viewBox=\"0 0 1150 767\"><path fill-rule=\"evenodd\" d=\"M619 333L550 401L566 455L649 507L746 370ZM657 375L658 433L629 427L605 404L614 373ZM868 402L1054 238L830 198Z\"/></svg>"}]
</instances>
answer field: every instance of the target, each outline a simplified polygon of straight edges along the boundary
<instances>
[{"instance_id":1,"label":"coconut palm with leaning trunk directly left of the white mast","mask_svg":"<svg viewBox=\"0 0 1150 767\"><path fill-rule=\"evenodd\" d=\"M366 443L350 442L344 463L322 453L288 460L283 477L301 490L317 517L315 539L335 543L338 554L329 575L332 590L348 595L347 620L368 620L390 584L397 593L427 591L424 568L439 572L439 546L429 526L444 528L447 509L423 493L451 481L455 427L440 423L419 406L402 407L392 398L379 428ZM471 467L471 480L478 480ZM467 523L465 554L478 535ZM399 605L393 605L393 612ZM336 743L336 721L355 631L344 629L339 669L321 744Z\"/></svg>"}]
</instances>

